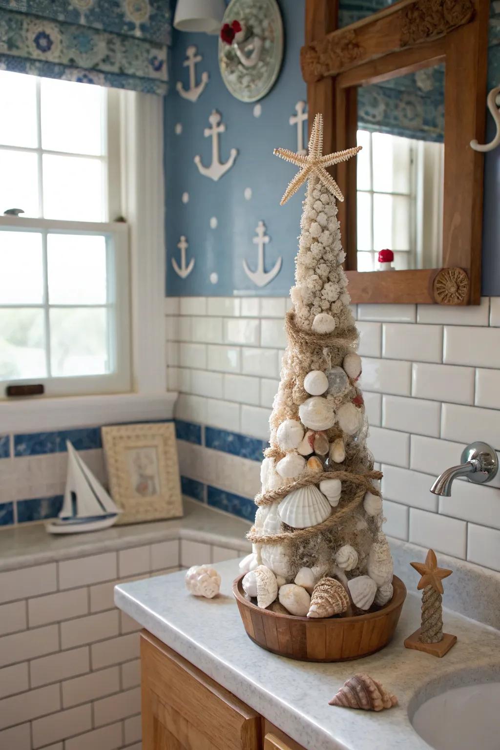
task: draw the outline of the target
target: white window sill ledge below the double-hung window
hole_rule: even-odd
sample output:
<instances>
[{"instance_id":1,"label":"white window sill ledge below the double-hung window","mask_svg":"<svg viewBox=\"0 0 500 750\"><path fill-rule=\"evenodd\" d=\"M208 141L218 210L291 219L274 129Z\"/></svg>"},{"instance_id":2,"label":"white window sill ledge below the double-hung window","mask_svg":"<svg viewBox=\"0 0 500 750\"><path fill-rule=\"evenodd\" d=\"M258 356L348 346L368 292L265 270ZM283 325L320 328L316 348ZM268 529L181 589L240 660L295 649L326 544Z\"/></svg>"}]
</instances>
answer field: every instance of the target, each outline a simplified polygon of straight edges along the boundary
<instances>
[{"instance_id":1,"label":"white window sill ledge below the double-hung window","mask_svg":"<svg viewBox=\"0 0 500 750\"><path fill-rule=\"evenodd\" d=\"M176 392L29 398L0 403L0 433L67 430L173 419Z\"/></svg>"}]
</instances>

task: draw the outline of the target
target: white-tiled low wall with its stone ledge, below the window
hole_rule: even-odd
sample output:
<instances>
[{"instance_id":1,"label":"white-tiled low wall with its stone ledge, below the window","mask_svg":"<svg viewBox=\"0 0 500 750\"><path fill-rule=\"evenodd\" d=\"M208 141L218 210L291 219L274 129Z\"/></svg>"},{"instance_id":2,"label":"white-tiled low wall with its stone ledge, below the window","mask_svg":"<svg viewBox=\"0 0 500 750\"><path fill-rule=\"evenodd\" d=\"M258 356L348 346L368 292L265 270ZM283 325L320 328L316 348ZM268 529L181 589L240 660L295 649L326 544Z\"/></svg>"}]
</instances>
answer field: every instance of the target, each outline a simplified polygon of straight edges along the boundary
<instances>
[{"instance_id":1,"label":"white-tiled low wall with its stone ledge, below the window","mask_svg":"<svg viewBox=\"0 0 500 750\"><path fill-rule=\"evenodd\" d=\"M115 608L115 583L247 553L246 523L184 509L78 539L1 532L1 750L139 750L139 626Z\"/></svg>"}]
</instances>

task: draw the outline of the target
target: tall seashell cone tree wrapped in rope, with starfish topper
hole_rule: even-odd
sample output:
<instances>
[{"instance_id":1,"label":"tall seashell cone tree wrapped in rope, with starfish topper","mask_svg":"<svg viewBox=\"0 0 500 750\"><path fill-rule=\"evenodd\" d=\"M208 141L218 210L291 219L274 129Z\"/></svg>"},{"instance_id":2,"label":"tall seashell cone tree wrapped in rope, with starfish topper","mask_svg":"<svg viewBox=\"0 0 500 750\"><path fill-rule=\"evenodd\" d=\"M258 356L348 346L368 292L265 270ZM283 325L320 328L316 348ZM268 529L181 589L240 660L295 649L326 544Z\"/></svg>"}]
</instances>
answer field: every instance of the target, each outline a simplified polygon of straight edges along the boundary
<instances>
[{"instance_id":1,"label":"tall seashell cone tree wrapped in rope, with starfish topper","mask_svg":"<svg viewBox=\"0 0 500 750\"><path fill-rule=\"evenodd\" d=\"M248 535L253 553L241 563L242 572L255 571L245 590L259 590L260 607L278 600L293 615L313 617L384 606L393 573L382 531L382 474L373 470L366 446L358 331L342 267L336 199L343 196L326 171L360 147L324 156L322 130L316 115L307 155L274 151L300 168L282 205L306 180L307 193L293 308L285 321L288 345Z\"/></svg>"}]
</instances>

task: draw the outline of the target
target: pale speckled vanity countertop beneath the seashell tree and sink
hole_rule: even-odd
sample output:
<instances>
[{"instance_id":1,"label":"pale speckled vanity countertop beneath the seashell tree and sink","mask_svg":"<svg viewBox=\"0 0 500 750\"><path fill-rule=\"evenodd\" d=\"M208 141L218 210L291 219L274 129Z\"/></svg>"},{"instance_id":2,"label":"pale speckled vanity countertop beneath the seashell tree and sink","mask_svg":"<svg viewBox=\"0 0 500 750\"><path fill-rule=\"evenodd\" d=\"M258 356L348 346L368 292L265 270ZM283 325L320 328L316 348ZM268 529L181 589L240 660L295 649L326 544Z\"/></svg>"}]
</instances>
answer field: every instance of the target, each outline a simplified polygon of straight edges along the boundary
<instances>
[{"instance_id":1,"label":"pale speckled vanity countertop beneath the seashell tree and sink","mask_svg":"<svg viewBox=\"0 0 500 750\"><path fill-rule=\"evenodd\" d=\"M214 567L222 576L217 598L190 595L178 572L121 583L115 603L308 750L429 750L409 714L448 687L500 679L500 631L449 610L445 631L458 643L445 658L405 649L403 640L420 624L420 597L411 593L394 639L376 654L337 664L271 654L244 631L231 592L238 561ZM329 706L340 685L361 671L394 692L400 705L378 713Z\"/></svg>"}]
</instances>

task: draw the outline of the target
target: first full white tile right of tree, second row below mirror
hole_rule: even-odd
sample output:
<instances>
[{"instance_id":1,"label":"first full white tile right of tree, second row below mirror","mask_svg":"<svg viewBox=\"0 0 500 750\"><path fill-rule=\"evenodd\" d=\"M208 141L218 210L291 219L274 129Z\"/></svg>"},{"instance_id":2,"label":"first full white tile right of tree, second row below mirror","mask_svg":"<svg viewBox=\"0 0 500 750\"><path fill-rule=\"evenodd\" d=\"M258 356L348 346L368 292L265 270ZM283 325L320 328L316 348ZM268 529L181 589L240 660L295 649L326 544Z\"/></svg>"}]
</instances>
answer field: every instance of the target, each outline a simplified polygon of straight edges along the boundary
<instances>
[{"instance_id":1,"label":"first full white tile right of tree, second row below mirror","mask_svg":"<svg viewBox=\"0 0 500 750\"><path fill-rule=\"evenodd\" d=\"M382 326L382 356L417 362L442 362L441 326L385 323Z\"/></svg>"}]
</instances>

